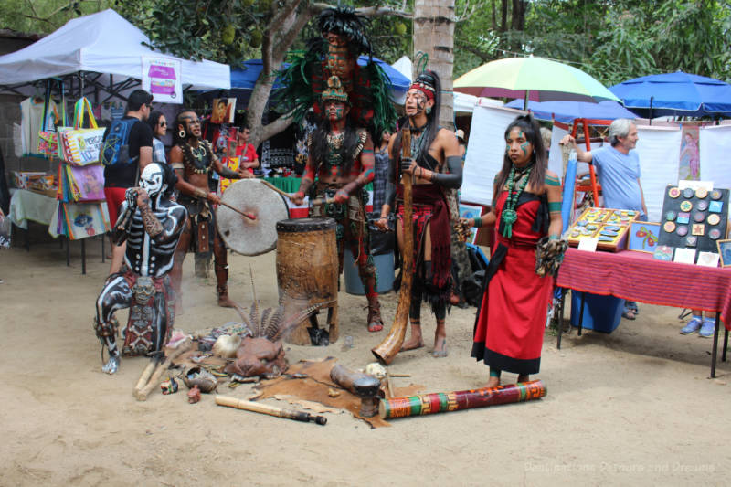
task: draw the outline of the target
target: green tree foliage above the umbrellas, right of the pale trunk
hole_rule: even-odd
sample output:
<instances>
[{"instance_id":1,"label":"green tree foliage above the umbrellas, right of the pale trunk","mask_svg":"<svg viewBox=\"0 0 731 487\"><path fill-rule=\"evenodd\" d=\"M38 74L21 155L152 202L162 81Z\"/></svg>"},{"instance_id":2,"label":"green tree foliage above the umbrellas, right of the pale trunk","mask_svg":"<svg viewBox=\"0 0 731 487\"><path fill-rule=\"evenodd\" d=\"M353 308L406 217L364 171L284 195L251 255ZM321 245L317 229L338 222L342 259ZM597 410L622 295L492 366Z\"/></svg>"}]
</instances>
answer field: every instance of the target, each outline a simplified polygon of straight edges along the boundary
<instances>
[{"instance_id":1,"label":"green tree foliage above the umbrellas, right of the pale trunk","mask_svg":"<svg viewBox=\"0 0 731 487\"><path fill-rule=\"evenodd\" d=\"M457 11L475 1L457 0ZM501 30L503 0L477 1L455 29L455 77L496 58L533 54L571 63L606 85L677 69L731 79L725 0L532 0L523 30ZM506 5L510 27L513 2Z\"/></svg>"}]
</instances>

